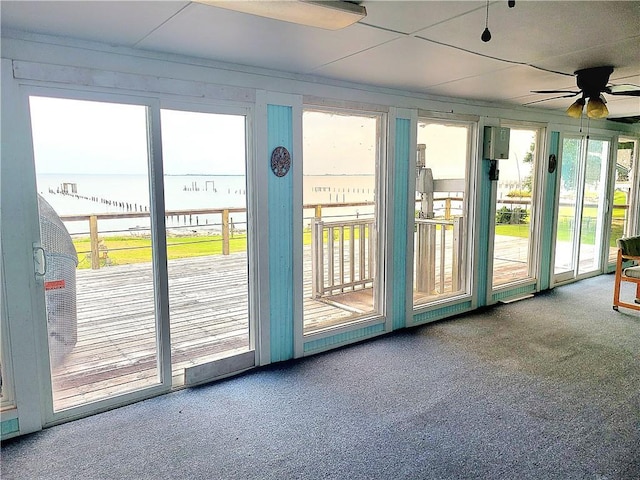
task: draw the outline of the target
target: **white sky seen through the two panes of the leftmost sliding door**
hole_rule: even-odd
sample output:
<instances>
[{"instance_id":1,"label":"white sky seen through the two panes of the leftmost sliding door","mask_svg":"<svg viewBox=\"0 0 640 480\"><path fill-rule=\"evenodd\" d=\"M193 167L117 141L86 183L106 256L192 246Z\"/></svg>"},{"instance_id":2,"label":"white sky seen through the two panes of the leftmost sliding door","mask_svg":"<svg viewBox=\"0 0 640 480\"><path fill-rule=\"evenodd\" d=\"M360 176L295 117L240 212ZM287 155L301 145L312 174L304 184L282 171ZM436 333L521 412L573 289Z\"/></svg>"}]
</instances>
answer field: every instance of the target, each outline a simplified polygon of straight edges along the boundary
<instances>
[{"instance_id":1,"label":"white sky seen through the two panes of the leftmost sliding door","mask_svg":"<svg viewBox=\"0 0 640 480\"><path fill-rule=\"evenodd\" d=\"M39 174L146 174L146 107L31 97ZM240 115L161 111L168 175L245 173Z\"/></svg>"}]
</instances>

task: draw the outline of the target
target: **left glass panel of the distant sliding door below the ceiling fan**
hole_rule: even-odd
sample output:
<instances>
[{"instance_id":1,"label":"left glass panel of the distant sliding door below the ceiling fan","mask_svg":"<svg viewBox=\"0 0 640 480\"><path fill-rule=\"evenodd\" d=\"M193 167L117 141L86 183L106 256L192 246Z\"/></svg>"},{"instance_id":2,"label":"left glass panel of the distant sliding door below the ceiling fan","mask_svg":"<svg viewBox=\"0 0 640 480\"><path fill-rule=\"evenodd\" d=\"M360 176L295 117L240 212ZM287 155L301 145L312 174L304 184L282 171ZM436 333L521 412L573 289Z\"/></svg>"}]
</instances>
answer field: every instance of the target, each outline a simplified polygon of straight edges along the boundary
<instances>
[{"instance_id":1,"label":"left glass panel of the distant sliding door below the ceiling fan","mask_svg":"<svg viewBox=\"0 0 640 480\"><path fill-rule=\"evenodd\" d=\"M577 258L576 218L580 203L578 183L582 141L580 137L567 137L562 142L560 197L556 225L555 275L570 272L573 276Z\"/></svg>"}]
</instances>

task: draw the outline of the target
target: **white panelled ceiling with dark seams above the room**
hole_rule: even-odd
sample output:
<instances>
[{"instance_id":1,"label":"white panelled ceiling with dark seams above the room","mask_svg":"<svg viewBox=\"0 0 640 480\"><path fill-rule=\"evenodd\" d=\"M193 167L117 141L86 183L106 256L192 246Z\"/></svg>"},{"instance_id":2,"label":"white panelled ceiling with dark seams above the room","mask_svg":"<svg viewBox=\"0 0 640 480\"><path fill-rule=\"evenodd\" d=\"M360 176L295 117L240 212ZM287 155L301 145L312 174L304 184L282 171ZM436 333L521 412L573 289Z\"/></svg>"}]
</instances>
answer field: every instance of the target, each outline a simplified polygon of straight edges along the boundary
<instances>
[{"instance_id":1,"label":"white panelled ceiling with dark seams above the room","mask_svg":"<svg viewBox=\"0 0 640 480\"><path fill-rule=\"evenodd\" d=\"M5 1L3 30L24 30L413 92L523 105L576 90L572 73L612 65L640 88L639 1L364 1L367 17L328 31L186 1ZM532 108L566 109L571 98ZM608 96L610 117L640 97Z\"/></svg>"}]
</instances>

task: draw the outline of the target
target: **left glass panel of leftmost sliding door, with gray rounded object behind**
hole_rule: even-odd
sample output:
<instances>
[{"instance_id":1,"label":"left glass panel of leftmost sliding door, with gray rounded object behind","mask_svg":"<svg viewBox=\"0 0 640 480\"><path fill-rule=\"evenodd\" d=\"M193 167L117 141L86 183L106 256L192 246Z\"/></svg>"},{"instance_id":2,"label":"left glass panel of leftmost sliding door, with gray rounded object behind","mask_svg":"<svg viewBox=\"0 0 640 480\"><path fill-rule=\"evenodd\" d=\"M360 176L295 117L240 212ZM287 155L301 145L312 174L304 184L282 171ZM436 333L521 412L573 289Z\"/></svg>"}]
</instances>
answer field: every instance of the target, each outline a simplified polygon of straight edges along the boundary
<instances>
[{"instance_id":1,"label":"left glass panel of leftmost sliding door, with gray rounded object behind","mask_svg":"<svg viewBox=\"0 0 640 480\"><path fill-rule=\"evenodd\" d=\"M160 383L147 107L29 101L55 412Z\"/></svg>"}]
</instances>

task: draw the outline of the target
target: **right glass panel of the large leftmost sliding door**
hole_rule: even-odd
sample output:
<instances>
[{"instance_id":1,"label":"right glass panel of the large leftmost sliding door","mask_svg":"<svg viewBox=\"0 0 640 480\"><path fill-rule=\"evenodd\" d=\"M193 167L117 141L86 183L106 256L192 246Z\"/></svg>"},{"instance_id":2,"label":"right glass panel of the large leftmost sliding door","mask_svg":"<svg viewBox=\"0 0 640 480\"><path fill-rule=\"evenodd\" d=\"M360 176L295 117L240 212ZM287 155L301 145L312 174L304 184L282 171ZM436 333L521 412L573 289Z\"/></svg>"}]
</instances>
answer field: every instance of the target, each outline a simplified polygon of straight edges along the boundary
<instances>
[{"instance_id":1,"label":"right glass panel of the large leftmost sliding door","mask_svg":"<svg viewBox=\"0 0 640 480\"><path fill-rule=\"evenodd\" d=\"M161 110L173 384L247 352L245 117Z\"/></svg>"}]
</instances>

